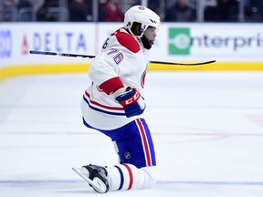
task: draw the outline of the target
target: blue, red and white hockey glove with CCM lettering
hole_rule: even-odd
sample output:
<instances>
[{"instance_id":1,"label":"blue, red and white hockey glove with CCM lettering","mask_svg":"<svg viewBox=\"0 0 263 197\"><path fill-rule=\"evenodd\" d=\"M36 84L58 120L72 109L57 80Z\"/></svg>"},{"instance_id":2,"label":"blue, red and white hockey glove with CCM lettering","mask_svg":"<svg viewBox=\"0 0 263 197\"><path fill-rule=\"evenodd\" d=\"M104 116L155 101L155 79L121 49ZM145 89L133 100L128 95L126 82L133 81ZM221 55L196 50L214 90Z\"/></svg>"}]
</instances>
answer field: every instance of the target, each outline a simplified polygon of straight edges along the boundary
<instances>
[{"instance_id":1,"label":"blue, red and white hockey glove with CCM lettering","mask_svg":"<svg viewBox=\"0 0 263 197\"><path fill-rule=\"evenodd\" d=\"M125 110L127 118L140 115L145 109L145 103L143 102L140 92L136 88L126 88L126 92L117 96L116 100Z\"/></svg>"}]
</instances>

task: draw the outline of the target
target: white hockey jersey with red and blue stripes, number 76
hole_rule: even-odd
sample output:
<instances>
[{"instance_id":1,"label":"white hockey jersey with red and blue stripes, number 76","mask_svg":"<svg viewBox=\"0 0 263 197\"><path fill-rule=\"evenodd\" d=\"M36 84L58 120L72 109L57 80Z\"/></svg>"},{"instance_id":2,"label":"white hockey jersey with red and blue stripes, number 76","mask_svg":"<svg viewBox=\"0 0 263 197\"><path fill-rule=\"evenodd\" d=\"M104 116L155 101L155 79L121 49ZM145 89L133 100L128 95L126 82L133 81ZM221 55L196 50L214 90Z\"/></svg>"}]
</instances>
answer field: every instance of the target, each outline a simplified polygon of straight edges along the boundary
<instances>
[{"instance_id":1,"label":"white hockey jersey with red and blue stripes, number 76","mask_svg":"<svg viewBox=\"0 0 263 197\"><path fill-rule=\"evenodd\" d=\"M90 87L81 101L83 119L94 129L114 130L138 119L127 118L112 95L123 87L137 88L144 98L148 50L125 28L110 35L89 68Z\"/></svg>"}]
</instances>

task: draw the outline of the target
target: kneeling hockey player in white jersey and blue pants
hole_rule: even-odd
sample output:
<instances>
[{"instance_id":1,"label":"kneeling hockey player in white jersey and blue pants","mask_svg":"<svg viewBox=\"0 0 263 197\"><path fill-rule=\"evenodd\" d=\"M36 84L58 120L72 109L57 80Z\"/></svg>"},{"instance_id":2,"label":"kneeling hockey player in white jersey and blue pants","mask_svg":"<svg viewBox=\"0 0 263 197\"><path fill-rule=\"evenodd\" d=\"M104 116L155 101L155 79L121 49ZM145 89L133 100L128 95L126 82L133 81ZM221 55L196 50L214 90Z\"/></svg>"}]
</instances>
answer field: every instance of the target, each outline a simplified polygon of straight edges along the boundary
<instances>
[{"instance_id":1,"label":"kneeling hockey player in white jersey and blue pants","mask_svg":"<svg viewBox=\"0 0 263 197\"><path fill-rule=\"evenodd\" d=\"M142 5L124 15L124 26L105 41L89 68L92 81L81 102L83 122L115 144L120 163L73 168L100 193L144 189L155 182L155 153L142 118L147 52L153 46L160 17Z\"/></svg>"}]
</instances>

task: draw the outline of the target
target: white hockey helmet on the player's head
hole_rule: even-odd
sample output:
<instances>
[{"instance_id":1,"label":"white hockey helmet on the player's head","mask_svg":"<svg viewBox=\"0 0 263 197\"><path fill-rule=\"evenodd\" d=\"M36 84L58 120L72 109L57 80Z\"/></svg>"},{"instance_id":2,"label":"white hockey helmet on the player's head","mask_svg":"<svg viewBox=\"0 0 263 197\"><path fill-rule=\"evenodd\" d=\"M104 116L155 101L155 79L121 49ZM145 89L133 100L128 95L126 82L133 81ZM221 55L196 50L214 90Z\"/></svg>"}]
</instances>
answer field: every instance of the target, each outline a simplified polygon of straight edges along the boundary
<instances>
[{"instance_id":1,"label":"white hockey helmet on the player's head","mask_svg":"<svg viewBox=\"0 0 263 197\"><path fill-rule=\"evenodd\" d=\"M148 26L153 26L158 28L161 23L160 16L154 13L151 9L144 7L142 5L132 6L124 14L124 26L130 30L130 33L132 33L131 27L133 22L142 24L141 26L142 34L140 36L136 36L139 38L142 37L144 31L147 29Z\"/></svg>"}]
</instances>

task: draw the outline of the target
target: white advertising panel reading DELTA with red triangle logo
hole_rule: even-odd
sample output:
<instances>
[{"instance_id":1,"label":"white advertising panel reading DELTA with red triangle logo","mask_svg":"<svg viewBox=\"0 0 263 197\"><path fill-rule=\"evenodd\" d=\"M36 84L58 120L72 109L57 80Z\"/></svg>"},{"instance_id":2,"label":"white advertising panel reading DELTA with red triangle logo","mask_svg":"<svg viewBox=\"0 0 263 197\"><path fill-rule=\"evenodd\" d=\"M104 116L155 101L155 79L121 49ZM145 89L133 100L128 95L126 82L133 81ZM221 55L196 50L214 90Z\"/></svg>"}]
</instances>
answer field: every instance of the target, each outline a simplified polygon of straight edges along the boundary
<instances>
[{"instance_id":1,"label":"white advertising panel reading DELTA with red triangle logo","mask_svg":"<svg viewBox=\"0 0 263 197\"><path fill-rule=\"evenodd\" d=\"M29 50L95 54L96 36L92 24L10 23L1 25L0 33L2 67L85 62L79 58L33 56Z\"/></svg>"}]
</instances>

